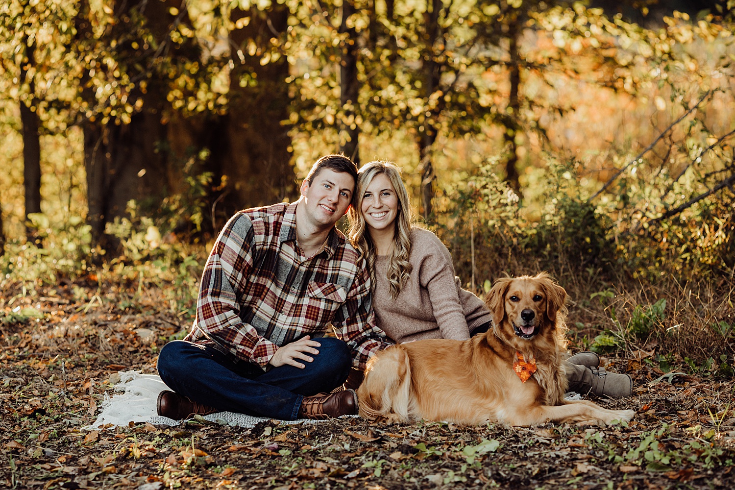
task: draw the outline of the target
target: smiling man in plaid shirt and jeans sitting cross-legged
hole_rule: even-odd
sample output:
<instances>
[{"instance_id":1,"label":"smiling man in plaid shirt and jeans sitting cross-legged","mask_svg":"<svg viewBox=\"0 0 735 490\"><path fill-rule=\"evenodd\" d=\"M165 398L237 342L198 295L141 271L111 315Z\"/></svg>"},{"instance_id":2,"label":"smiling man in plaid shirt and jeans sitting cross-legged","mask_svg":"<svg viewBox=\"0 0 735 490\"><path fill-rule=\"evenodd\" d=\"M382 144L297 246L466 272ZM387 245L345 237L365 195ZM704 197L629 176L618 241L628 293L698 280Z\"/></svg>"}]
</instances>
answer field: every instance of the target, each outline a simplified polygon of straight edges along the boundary
<instances>
[{"instance_id":1,"label":"smiling man in plaid shirt and jeans sitting cross-legged","mask_svg":"<svg viewBox=\"0 0 735 490\"><path fill-rule=\"evenodd\" d=\"M204 267L190 334L159 355L159 374L175 391L159 394L159 415L357 413L353 390L330 392L387 344L374 326L364 261L334 227L356 179L345 156L323 156L298 201L229 220ZM339 338L317 338L329 325Z\"/></svg>"}]
</instances>

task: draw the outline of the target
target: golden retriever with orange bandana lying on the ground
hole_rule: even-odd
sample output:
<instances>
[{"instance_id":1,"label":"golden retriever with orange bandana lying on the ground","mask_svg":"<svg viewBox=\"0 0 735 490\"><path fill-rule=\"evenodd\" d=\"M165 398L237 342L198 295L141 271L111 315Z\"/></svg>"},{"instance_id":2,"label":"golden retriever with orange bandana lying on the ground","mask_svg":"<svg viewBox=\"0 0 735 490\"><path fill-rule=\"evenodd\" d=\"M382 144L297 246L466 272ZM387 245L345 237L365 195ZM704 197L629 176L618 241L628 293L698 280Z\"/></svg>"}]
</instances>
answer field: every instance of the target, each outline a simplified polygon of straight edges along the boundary
<instances>
[{"instance_id":1,"label":"golden retriever with orange bandana lying on the ground","mask_svg":"<svg viewBox=\"0 0 735 490\"><path fill-rule=\"evenodd\" d=\"M632 410L564 400L566 298L546 273L498 279L486 299L486 334L394 345L370 359L357 390L360 416L461 425L630 420Z\"/></svg>"}]
</instances>

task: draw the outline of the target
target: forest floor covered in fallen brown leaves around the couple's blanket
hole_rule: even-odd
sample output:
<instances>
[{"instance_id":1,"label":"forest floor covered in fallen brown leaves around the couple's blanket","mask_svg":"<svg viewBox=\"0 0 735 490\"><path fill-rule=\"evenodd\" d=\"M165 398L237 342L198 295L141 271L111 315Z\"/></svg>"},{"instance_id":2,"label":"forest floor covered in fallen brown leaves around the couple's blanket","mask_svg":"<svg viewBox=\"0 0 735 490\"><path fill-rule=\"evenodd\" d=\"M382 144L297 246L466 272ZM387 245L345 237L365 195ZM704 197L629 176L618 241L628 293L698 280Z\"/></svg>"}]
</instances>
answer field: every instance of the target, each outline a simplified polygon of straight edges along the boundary
<instances>
[{"instance_id":1,"label":"forest floor covered in fallen brown leaves around the couple's blanket","mask_svg":"<svg viewBox=\"0 0 735 490\"><path fill-rule=\"evenodd\" d=\"M92 286L91 284L89 285ZM85 294L85 291L87 292ZM13 294L15 296L12 296ZM186 329L154 295L135 303L61 284L0 303L0 487L11 489L733 489L735 381L611 356L634 396L625 426L466 428L358 418L254 428L195 420L85 430L115 373L155 372ZM10 299L12 298L12 299ZM82 298L82 299L79 299Z\"/></svg>"}]
</instances>

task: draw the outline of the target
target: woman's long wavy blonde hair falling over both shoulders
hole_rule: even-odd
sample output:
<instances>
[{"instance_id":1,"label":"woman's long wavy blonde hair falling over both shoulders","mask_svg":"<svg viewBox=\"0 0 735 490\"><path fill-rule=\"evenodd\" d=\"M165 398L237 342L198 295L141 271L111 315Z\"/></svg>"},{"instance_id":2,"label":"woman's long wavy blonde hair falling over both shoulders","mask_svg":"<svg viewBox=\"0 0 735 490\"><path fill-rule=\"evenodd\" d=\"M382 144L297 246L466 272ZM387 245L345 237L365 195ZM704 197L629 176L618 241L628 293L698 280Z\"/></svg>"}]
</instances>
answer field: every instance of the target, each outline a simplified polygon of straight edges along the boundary
<instances>
[{"instance_id":1,"label":"woman's long wavy blonde hair falling over both shoulders","mask_svg":"<svg viewBox=\"0 0 735 490\"><path fill-rule=\"evenodd\" d=\"M370 282L373 291L376 285L375 261L378 252L373 240L370 238L365 216L362 215L362 200L365 198L365 190L381 173L387 176L395 190L398 198L398 214L393 222L395 234L393 235L393 250L388 258L388 283L390 284L390 296L395 299L409 280L413 266L409 263L411 253L411 228L414 226L414 217L411 211L409 194L401 179L401 169L392 162L376 161L362 166L357 172L356 204L350 208L348 218L350 226L347 236L356 248L365 257L368 270L370 271Z\"/></svg>"}]
</instances>

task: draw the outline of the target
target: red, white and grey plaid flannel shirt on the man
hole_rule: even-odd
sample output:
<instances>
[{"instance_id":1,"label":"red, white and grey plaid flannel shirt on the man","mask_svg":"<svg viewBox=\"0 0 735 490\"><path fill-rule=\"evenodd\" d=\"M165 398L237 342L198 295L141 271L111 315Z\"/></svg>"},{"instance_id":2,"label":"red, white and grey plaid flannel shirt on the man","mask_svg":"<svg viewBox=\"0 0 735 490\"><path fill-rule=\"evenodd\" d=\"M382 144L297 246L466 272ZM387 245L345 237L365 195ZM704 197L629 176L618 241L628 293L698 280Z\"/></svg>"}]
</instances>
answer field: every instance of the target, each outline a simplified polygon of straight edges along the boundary
<instances>
[{"instance_id":1,"label":"red, white and grey plaid flannel shirt on the man","mask_svg":"<svg viewBox=\"0 0 735 490\"><path fill-rule=\"evenodd\" d=\"M185 340L209 344L263 369L279 346L329 324L353 365L387 346L371 307L370 274L334 228L309 259L296 247L296 206L279 203L234 215L201 276L196 317Z\"/></svg>"}]
</instances>

